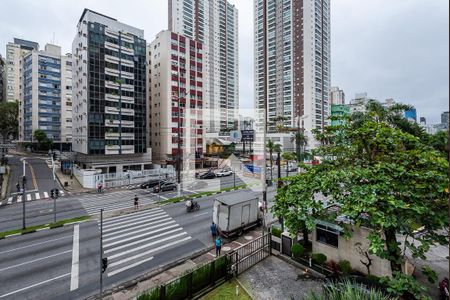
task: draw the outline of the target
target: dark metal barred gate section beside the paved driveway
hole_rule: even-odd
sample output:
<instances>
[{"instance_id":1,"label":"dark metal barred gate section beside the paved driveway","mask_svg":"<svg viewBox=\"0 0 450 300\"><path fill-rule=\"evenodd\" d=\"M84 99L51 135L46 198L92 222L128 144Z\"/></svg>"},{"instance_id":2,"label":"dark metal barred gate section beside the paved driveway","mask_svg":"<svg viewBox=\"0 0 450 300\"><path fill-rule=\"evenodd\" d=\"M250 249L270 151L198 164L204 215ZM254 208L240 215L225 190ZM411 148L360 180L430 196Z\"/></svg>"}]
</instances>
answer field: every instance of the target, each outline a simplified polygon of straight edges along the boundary
<instances>
[{"instance_id":1,"label":"dark metal barred gate section beside the paved driveway","mask_svg":"<svg viewBox=\"0 0 450 300\"><path fill-rule=\"evenodd\" d=\"M230 268L236 275L241 274L271 254L271 234L265 233L254 241L251 241L228 254Z\"/></svg>"}]
</instances>

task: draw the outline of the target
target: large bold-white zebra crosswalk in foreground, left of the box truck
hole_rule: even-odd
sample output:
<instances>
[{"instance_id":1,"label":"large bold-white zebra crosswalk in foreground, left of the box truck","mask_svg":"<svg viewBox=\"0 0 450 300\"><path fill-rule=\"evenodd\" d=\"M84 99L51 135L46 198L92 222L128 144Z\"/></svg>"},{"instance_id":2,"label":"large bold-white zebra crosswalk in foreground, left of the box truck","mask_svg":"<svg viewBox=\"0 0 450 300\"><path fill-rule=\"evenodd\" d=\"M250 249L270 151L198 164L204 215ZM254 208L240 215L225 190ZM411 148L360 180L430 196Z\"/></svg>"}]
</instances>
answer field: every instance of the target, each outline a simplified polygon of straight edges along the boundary
<instances>
[{"instance_id":1,"label":"large bold-white zebra crosswalk in foreground, left of the box truck","mask_svg":"<svg viewBox=\"0 0 450 300\"><path fill-rule=\"evenodd\" d=\"M100 224L99 224L100 226ZM151 261L192 239L163 209L155 208L103 221L103 256L108 277Z\"/></svg>"}]
</instances>

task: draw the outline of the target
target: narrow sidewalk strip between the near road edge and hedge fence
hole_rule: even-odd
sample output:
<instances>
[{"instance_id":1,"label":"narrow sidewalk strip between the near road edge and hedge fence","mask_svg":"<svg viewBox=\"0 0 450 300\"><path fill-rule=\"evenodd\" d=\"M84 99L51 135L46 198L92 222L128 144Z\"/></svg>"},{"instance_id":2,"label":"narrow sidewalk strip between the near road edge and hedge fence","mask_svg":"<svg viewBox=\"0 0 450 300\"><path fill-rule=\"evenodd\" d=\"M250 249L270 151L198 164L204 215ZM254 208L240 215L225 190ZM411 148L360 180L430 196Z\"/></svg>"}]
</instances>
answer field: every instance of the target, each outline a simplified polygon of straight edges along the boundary
<instances>
[{"instance_id":1,"label":"narrow sidewalk strip between the near road edge and hedge fence","mask_svg":"<svg viewBox=\"0 0 450 300\"><path fill-rule=\"evenodd\" d=\"M245 235L241 236L235 241L232 241L230 243L224 244L222 246L222 253L221 255L225 255L226 253L232 251L233 249L236 249L252 240L257 239L262 235L261 229L253 230ZM211 247L205 249L205 251L200 251L201 253L197 253L198 255L191 258L184 258L183 261L180 261L178 265L169 267L166 270L155 270L154 274L149 273L150 277L146 280L140 281L135 285L130 286L128 289L119 290L114 292L110 296L104 296L103 299L107 300L125 300L125 299L133 299L134 297L142 294L143 292L158 286L162 283L166 283L172 279L175 279L183 274L186 274L186 272L193 270L199 266L202 266L203 264L210 262L216 258L215 256L215 249L213 248L213 240L211 238Z\"/></svg>"}]
</instances>

